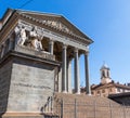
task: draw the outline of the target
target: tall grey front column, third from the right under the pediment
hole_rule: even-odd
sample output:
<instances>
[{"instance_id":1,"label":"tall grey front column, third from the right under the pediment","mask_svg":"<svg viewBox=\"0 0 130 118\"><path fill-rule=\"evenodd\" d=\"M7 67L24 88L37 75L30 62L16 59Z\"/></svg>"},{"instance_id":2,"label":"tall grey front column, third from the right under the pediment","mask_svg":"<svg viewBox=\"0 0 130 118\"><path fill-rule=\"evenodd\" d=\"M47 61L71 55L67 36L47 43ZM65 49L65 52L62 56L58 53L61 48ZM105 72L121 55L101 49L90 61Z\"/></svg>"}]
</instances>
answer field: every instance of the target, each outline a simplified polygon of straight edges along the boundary
<instances>
[{"instance_id":1,"label":"tall grey front column, third from the right under the pediment","mask_svg":"<svg viewBox=\"0 0 130 118\"><path fill-rule=\"evenodd\" d=\"M63 45L62 51L62 91L67 92L66 89L66 77L67 77L67 45Z\"/></svg>"}]
</instances>

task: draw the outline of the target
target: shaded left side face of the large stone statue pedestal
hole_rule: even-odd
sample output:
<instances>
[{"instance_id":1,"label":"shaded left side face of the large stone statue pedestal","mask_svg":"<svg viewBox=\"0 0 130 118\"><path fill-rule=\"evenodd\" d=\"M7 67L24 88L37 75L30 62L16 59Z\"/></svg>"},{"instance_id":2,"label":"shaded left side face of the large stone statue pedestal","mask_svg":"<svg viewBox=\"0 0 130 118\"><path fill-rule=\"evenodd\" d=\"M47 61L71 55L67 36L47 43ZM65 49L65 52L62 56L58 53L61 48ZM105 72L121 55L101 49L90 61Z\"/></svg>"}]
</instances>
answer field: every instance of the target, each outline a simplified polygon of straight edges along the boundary
<instances>
[{"instance_id":1,"label":"shaded left side face of the large stone statue pedestal","mask_svg":"<svg viewBox=\"0 0 130 118\"><path fill-rule=\"evenodd\" d=\"M0 114L6 110L12 62L0 63Z\"/></svg>"}]
</instances>

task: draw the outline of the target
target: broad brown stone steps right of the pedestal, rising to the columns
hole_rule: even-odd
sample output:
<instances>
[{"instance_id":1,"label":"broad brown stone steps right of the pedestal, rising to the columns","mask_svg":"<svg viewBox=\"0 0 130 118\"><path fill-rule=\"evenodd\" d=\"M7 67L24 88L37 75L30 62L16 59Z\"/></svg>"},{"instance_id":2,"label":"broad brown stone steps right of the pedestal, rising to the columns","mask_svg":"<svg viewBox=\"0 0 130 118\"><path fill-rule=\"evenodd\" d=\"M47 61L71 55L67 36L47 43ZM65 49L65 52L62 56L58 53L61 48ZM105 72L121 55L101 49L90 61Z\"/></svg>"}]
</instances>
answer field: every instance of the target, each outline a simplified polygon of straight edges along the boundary
<instances>
[{"instance_id":1,"label":"broad brown stone steps right of the pedestal, rising to the columns","mask_svg":"<svg viewBox=\"0 0 130 118\"><path fill-rule=\"evenodd\" d=\"M130 107L101 96L55 93L53 105L60 118L130 118Z\"/></svg>"}]
</instances>

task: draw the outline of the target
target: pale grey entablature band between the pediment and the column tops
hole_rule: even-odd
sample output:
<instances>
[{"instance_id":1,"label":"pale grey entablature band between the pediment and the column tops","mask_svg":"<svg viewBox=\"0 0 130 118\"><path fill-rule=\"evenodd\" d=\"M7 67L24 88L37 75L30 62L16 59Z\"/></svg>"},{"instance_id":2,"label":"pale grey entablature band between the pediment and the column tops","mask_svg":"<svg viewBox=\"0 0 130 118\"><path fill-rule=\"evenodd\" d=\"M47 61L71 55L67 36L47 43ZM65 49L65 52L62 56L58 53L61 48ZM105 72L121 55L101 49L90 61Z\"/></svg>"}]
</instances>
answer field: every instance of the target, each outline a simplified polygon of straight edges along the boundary
<instances>
[{"instance_id":1,"label":"pale grey entablature band between the pediment and the column tops","mask_svg":"<svg viewBox=\"0 0 130 118\"><path fill-rule=\"evenodd\" d=\"M48 37L50 40L53 40L53 41L56 41L60 43L65 43L66 45L70 45L73 48L78 48L79 50L88 51L87 44L79 42L77 40L74 40L69 37L62 36L61 34L56 34L56 32L49 30L49 29L46 29L43 27L36 26L34 24L27 23L27 22L22 21L22 19L18 21L17 26L18 27L22 27L22 26L26 27L27 31L31 31L31 29L34 27L37 27L37 34L40 37Z\"/></svg>"}]
</instances>

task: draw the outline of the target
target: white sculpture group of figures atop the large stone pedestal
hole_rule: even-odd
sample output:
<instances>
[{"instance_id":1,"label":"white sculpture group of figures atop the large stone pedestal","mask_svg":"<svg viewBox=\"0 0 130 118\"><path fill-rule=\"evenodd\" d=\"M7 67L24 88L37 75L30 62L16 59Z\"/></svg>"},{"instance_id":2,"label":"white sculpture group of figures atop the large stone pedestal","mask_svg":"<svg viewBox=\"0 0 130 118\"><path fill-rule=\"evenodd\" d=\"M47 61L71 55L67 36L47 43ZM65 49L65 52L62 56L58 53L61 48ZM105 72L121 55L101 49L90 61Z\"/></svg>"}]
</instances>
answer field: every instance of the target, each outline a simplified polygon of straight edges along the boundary
<instances>
[{"instance_id":1,"label":"white sculpture group of figures atop the large stone pedestal","mask_svg":"<svg viewBox=\"0 0 130 118\"><path fill-rule=\"evenodd\" d=\"M43 51L41 40L43 36L38 35L37 27L32 27L30 31L24 26L17 26L15 28L16 39L18 45L26 45L34 48L37 51Z\"/></svg>"}]
</instances>

